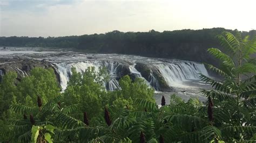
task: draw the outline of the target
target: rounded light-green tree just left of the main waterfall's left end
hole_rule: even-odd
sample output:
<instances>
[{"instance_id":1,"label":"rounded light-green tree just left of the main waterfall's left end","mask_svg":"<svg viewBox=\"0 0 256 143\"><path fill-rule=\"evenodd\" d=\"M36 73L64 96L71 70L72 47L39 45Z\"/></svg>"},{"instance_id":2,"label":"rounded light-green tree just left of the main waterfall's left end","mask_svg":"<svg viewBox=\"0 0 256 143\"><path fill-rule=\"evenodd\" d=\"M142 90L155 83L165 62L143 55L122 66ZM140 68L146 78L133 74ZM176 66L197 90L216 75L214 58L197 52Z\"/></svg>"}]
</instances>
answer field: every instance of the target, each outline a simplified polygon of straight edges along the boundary
<instances>
[{"instance_id":1,"label":"rounded light-green tree just left of the main waterfall's left end","mask_svg":"<svg viewBox=\"0 0 256 143\"><path fill-rule=\"evenodd\" d=\"M30 76L22 78L17 84L18 88L18 103L25 105L34 105L37 96L42 98L42 103L45 104L49 99L59 95L60 87L56 80L55 73L52 68L33 68Z\"/></svg>"}]
</instances>

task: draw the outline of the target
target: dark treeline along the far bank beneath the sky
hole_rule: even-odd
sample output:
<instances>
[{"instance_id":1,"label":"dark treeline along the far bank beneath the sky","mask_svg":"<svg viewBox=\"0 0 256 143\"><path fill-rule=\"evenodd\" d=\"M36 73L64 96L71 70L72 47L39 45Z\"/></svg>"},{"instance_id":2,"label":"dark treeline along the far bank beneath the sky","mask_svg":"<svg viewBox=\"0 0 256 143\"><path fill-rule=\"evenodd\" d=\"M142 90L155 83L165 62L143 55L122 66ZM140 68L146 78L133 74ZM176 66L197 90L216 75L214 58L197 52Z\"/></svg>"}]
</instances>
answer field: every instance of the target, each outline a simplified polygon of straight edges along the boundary
<instances>
[{"instance_id":1,"label":"dark treeline along the far bank beneath the sky","mask_svg":"<svg viewBox=\"0 0 256 143\"><path fill-rule=\"evenodd\" d=\"M220 48L216 35L223 31L237 32L225 28L211 28L164 32L112 31L105 34L48 38L0 37L0 46L75 48L86 52L136 54L216 63L206 49ZM240 33L242 37L256 35L255 30Z\"/></svg>"}]
</instances>

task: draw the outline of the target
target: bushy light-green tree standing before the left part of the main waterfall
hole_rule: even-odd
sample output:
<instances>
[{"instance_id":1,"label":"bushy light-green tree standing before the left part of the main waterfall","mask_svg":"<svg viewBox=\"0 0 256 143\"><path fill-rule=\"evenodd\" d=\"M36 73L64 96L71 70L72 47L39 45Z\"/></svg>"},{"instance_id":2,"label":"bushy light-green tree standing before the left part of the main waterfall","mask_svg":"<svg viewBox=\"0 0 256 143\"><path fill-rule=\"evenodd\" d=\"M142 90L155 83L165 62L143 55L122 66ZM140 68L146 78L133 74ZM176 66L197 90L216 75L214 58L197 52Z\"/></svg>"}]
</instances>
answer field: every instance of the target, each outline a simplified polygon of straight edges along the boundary
<instances>
[{"instance_id":1,"label":"bushy light-green tree standing before the left part of the main waterfall","mask_svg":"<svg viewBox=\"0 0 256 143\"><path fill-rule=\"evenodd\" d=\"M96 117L106 104L107 92L104 82L107 80L106 69L102 68L98 72L95 67L89 67L84 73L77 73L72 68L72 76L68 87L64 92L65 104L78 104L80 112L87 112L89 119Z\"/></svg>"}]
</instances>

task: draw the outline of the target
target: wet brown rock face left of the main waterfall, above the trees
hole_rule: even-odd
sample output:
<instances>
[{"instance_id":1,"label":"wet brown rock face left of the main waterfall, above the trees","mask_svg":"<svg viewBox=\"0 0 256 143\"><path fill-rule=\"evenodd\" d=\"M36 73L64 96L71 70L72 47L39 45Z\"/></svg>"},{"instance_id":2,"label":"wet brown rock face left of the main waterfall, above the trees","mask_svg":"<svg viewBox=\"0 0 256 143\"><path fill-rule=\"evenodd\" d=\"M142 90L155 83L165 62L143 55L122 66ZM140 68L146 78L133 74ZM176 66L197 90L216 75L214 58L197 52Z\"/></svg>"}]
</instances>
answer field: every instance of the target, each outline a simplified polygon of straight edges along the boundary
<instances>
[{"instance_id":1,"label":"wet brown rock face left of the main waterfall, above the trees","mask_svg":"<svg viewBox=\"0 0 256 143\"><path fill-rule=\"evenodd\" d=\"M58 81L60 81L60 77L56 67L52 65L50 62L45 60L32 60L32 59L0 59L0 75L6 74L9 71L16 71L17 80L21 80L22 77L30 74L30 70L35 67L42 68L53 68L55 71L55 75Z\"/></svg>"}]
</instances>

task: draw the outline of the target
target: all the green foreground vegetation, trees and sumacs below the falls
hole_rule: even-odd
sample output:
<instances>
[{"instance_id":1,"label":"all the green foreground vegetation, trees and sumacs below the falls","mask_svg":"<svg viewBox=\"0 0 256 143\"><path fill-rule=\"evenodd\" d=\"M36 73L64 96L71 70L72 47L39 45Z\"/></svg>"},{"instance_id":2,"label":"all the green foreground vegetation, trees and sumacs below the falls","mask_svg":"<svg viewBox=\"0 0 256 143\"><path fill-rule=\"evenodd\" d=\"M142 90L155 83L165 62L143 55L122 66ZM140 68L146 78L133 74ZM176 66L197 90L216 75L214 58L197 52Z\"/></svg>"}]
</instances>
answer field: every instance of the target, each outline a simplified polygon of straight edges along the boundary
<instances>
[{"instance_id":1,"label":"all the green foreground vegetation, trees and sumacs below the falls","mask_svg":"<svg viewBox=\"0 0 256 143\"><path fill-rule=\"evenodd\" d=\"M172 95L170 105L154 102L153 90L137 78L120 81L122 90L105 91L107 73L75 69L60 94L53 71L35 68L20 82L15 73L0 84L0 140L9 142L255 142L256 39L224 32L226 51L210 48L220 66L207 65L223 77L203 90L206 103L182 101ZM226 54L227 53L227 54Z\"/></svg>"}]
</instances>

